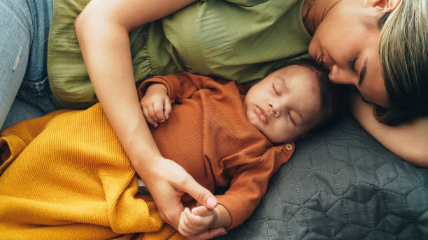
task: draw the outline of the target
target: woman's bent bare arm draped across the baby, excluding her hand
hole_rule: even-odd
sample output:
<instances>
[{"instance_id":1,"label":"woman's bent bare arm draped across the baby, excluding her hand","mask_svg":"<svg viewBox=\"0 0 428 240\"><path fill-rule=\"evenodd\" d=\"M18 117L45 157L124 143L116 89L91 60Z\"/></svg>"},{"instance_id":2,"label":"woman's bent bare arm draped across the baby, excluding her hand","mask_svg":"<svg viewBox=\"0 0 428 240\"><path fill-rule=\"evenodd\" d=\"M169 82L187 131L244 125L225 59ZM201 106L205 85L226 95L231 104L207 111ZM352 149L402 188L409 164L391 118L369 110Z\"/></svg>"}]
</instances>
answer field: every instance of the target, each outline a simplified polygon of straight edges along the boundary
<instances>
[{"instance_id":1,"label":"woman's bent bare arm draped across the baby, excluding her hand","mask_svg":"<svg viewBox=\"0 0 428 240\"><path fill-rule=\"evenodd\" d=\"M92 0L75 22L94 91L137 172L160 153L138 103L129 31L192 1Z\"/></svg>"}]
</instances>

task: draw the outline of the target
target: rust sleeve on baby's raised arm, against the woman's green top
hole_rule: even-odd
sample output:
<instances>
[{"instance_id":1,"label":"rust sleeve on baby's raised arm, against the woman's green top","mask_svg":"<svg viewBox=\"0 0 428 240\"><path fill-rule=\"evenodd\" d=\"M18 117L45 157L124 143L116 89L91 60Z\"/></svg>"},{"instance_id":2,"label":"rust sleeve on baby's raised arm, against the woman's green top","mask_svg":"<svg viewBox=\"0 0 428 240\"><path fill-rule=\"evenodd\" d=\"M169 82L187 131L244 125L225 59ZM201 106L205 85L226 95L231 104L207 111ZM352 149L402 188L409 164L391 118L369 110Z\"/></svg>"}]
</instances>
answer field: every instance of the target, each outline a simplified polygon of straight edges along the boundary
<instances>
[{"instance_id":1,"label":"rust sleeve on baby's raised arm, against the woman's green top","mask_svg":"<svg viewBox=\"0 0 428 240\"><path fill-rule=\"evenodd\" d=\"M196 75L193 73L181 72L166 76L156 76L145 80L138 87L138 99L143 98L145 91L153 83L165 84L168 89L169 99L180 101L190 98L199 89L206 88L207 82L214 82L210 77Z\"/></svg>"}]
</instances>

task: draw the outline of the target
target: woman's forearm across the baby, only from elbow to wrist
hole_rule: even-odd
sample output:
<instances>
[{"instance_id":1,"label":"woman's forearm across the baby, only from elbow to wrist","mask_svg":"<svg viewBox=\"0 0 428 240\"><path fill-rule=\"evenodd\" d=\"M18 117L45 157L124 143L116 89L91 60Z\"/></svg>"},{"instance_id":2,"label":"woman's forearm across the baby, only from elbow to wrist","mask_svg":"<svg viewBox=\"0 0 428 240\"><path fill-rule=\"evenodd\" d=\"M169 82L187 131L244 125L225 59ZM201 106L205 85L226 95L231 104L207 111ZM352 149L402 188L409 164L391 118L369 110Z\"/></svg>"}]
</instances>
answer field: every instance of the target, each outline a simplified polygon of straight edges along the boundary
<instances>
[{"instance_id":1,"label":"woman's forearm across the baby, only from elbow to wrist","mask_svg":"<svg viewBox=\"0 0 428 240\"><path fill-rule=\"evenodd\" d=\"M76 33L94 91L131 164L141 169L160 154L138 103L127 29L85 24Z\"/></svg>"}]
</instances>

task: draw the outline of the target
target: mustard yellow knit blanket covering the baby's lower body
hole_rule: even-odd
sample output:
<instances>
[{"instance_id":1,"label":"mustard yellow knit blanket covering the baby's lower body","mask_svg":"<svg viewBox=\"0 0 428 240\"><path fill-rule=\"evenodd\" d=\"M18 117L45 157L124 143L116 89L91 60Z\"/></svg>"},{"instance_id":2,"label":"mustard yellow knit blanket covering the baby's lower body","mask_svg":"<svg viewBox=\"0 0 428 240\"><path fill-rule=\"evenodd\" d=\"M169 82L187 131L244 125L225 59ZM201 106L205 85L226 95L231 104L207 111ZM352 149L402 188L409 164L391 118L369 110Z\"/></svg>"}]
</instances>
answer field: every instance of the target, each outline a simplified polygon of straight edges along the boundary
<instances>
[{"instance_id":1,"label":"mustard yellow knit blanket covering the baby's lower body","mask_svg":"<svg viewBox=\"0 0 428 240\"><path fill-rule=\"evenodd\" d=\"M1 133L0 153L0 239L184 239L136 195L99 105L18 123Z\"/></svg>"}]
</instances>

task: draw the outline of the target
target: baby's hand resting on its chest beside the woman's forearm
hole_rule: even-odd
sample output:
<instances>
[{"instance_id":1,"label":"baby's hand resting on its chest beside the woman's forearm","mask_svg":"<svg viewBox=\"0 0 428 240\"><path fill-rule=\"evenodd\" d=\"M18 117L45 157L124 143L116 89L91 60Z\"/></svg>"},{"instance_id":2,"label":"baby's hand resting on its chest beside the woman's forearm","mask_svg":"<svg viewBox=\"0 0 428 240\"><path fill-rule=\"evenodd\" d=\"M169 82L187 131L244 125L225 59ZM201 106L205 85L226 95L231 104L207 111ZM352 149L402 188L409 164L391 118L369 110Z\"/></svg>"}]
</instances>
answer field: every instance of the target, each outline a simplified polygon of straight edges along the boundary
<instances>
[{"instance_id":1,"label":"baby's hand resting on its chest beside the woman's forearm","mask_svg":"<svg viewBox=\"0 0 428 240\"><path fill-rule=\"evenodd\" d=\"M145 120L157 127L169 118L172 106L168 97L168 89L162 83L151 84L140 100Z\"/></svg>"}]
</instances>

